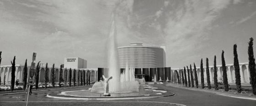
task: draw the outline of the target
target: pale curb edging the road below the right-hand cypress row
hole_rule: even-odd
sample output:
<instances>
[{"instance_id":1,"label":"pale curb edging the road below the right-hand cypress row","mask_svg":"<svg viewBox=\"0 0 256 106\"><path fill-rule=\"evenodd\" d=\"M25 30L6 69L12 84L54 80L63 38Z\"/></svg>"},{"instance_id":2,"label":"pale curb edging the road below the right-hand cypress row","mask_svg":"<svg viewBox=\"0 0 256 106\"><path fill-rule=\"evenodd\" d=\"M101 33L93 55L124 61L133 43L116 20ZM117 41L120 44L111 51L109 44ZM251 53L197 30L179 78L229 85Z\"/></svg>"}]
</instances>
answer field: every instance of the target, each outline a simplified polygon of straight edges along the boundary
<instances>
[{"instance_id":1,"label":"pale curb edging the road below the right-hand cypress row","mask_svg":"<svg viewBox=\"0 0 256 106\"><path fill-rule=\"evenodd\" d=\"M176 86L172 86L172 87L176 87ZM182 88L182 89L193 90L193 91L204 91L204 92L209 92L209 93L215 93L215 94L220 95L220 96L227 96L227 97L233 97L233 98L247 99L247 100L256 101L256 97L238 96L238 95L232 95L232 94L221 93L221 92L216 92L216 91L197 90L197 89L186 88L186 87L176 87L176 88Z\"/></svg>"}]
</instances>

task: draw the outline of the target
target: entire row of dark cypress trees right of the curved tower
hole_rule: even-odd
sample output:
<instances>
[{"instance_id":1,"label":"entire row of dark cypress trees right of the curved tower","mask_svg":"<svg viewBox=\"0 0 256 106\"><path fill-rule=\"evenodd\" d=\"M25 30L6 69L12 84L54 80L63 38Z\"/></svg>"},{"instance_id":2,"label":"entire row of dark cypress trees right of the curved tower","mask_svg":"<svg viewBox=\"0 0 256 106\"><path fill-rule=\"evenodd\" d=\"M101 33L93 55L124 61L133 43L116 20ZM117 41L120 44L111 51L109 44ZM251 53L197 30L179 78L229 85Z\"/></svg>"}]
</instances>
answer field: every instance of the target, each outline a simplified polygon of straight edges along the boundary
<instances>
[{"instance_id":1,"label":"entire row of dark cypress trees right of the curved tower","mask_svg":"<svg viewBox=\"0 0 256 106\"><path fill-rule=\"evenodd\" d=\"M253 38L250 38L249 41L249 46L248 46L248 55L249 55L249 71L250 71L250 83L252 87L252 93L256 95L256 67L255 67L255 58L253 55ZM235 68L235 84L236 84L236 90L238 93L241 93L242 88L241 88L241 80L240 80L240 66L239 66L239 61L238 61L238 55L237 55L237 45L234 45L234 68ZM224 91L229 91L229 84L228 84L228 78L227 78L227 69L226 69L226 63L224 59L224 50L222 50L221 54L221 62L222 62L222 70L223 70L223 83L224 83ZM203 75L203 59L201 59L201 65L200 65L200 70L201 70L201 88L204 89L204 75ZM195 82L196 82L196 88L198 88L198 79L197 79L197 70L196 70L196 65L194 63L194 74L195 74ZM192 67L190 65L190 76L191 76L191 81L190 81L190 76L189 76L189 69L187 66L187 73L186 75L186 68L184 66L184 74L181 69L181 81L182 84L187 87L187 78L188 78L188 86L194 87L194 79L193 79L193 74L192 74ZM206 58L206 76L207 76L207 86L208 89L211 89L211 82L210 82L210 73L209 73L209 64L208 64L208 58ZM218 79L217 79L217 66L216 66L216 56L214 56L214 63L213 63L213 81L214 81L214 89L219 90L219 84L218 84ZM192 83L191 83L192 82Z\"/></svg>"}]
</instances>

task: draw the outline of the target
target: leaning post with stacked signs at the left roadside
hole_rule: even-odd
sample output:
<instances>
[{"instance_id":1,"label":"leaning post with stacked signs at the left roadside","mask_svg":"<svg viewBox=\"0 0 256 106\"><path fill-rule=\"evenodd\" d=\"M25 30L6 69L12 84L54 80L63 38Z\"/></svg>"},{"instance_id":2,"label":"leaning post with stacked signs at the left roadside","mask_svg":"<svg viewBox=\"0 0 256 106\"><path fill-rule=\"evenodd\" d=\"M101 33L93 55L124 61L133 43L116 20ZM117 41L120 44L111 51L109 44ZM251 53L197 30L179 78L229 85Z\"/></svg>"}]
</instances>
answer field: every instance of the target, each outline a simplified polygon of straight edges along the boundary
<instances>
[{"instance_id":1,"label":"leaning post with stacked signs at the left roadside","mask_svg":"<svg viewBox=\"0 0 256 106\"><path fill-rule=\"evenodd\" d=\"M27 104L28 104L28 95L29 95L29 91L30 91L30 86L33 85L33 79L32 78L33 78L33 76L35 74L36 63L34 63L34 61L36 61L36 57L37 57L37 53L33 53L32 63L31 63L30 71L29 71L30 79L28 80Z\"/></svg>"}]
</instances>

